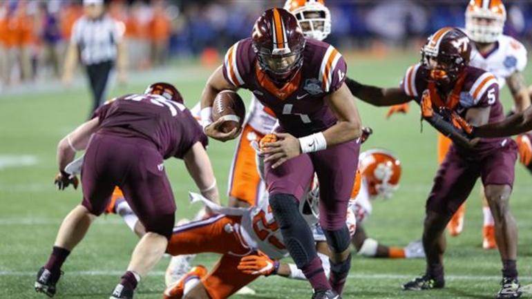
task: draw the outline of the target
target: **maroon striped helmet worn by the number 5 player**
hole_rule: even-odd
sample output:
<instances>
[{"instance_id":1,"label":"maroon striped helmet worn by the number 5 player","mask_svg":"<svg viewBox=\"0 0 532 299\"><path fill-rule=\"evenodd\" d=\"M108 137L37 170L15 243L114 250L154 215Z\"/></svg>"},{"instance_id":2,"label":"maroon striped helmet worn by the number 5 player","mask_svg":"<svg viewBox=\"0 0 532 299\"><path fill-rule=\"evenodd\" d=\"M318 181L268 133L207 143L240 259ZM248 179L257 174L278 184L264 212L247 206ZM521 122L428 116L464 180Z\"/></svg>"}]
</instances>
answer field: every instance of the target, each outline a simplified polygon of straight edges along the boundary
<instances>
[{"instance_id":1,"label":"maroon striped helmet worn by the number 5 player","mask_svg":"<svg viewBox=\"0 0 532 299\"><path fill-rule=\"evenodd\" d=\"M441 28L421 48L421 64L438 84L456 81L471 58L471 41L458 28Z\"/></svg>"}]
</instances>

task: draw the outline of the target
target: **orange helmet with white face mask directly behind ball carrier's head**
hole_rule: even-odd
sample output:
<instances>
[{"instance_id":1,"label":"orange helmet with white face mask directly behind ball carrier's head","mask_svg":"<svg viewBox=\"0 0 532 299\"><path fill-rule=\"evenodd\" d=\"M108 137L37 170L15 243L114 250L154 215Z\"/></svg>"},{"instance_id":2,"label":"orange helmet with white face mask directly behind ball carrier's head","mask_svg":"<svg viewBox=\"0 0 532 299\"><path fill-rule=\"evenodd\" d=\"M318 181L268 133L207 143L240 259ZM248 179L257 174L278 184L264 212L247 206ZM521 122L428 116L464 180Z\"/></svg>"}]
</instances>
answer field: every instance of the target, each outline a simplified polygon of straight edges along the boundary
<instances>
[{"instance_id":1,"label":"orange helmet with white face mask directly behind ball carrier's head","mask_svg":"<svg viewBox=\"0 0 532 299\"><path fill-rule=\"evenodd\" d=\"M323 41L331 33L331 13L323 0L287 0L285 10L296 16L305 37Z\"/></svg>"}]
</instances>

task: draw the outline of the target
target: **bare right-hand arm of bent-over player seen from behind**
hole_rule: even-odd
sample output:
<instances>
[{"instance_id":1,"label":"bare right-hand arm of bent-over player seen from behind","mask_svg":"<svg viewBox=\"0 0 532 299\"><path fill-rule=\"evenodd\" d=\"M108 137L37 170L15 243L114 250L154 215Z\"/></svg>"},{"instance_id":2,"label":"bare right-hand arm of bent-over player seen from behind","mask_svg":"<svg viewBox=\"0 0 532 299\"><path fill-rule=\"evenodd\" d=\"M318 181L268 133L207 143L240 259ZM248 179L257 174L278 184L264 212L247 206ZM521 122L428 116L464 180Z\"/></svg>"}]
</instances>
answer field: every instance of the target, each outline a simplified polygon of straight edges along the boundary
<instances>
[{"instance_id":1,"label":"bare right-hand arm of bent-over player seen from behind","mask_svg":"<svg viewBox=\"0 0 532 299\"><path fill-rule=\"evenodd\" d=\"M201 195L212 202L220 204L216 177L211 166L211 160L200 142L196 142L183 156L184 164L187 166L192 179L200 189Z\"/></svg>"}]
</instances>

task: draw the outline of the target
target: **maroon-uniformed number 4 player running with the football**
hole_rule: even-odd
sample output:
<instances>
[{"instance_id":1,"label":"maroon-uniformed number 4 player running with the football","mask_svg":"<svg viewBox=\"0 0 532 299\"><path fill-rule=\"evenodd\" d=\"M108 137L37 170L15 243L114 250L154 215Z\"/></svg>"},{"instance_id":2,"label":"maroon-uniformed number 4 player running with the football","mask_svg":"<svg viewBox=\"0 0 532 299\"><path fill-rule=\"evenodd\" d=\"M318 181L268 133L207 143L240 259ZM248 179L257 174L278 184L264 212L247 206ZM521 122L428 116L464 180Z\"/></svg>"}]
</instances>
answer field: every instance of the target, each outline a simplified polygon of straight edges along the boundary
<instances>
[{"instance_id":1,"label":"maroon-uniformed number 4 player running with the football","mask_svg":"<svg viewBox=\"0 0 532 299\"><path fill-rule=\"evenodd\" d=\"M221 90L251 90L278 119L279 141L265 151L269 202L288 251L312 284L312 298L339 298L350 269L345 211L358 164L361 120L344 84L345 70L338 50L305 39L294 15L273 8L258 18L251 38L229 48L201 97L205 133L221 141L238 135L236 129L222 133L211 124L213 99ZM297 202L314 171L321 186L320 223L332 251L329 280L312 231L298 213Z\"/></svg>"}]
</instances>

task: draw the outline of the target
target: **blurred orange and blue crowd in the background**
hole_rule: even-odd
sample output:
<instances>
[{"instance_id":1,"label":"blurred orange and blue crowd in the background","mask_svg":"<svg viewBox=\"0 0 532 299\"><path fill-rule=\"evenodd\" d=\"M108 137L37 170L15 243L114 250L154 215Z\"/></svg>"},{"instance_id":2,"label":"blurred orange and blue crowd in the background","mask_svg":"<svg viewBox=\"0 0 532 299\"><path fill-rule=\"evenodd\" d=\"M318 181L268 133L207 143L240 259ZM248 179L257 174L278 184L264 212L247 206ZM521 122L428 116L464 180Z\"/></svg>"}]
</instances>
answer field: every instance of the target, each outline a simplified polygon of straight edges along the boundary
<instances>
[{"instance_id":1,"label":"blurred orange and blue crowd in the background","mask_svg":"<svg viewBox=\"0 0 532 299\"><path fill-rule=\"evenodd\" d=\"M168 57L199 57L207 64L249 36L260 13L283 0L106 0L122 28L129 69L162 66ZM332 35L340 48L374 43L408 46L442 26L464 26L467 0L329 0ZM506 33L532 40L532 1L506 1ZM82 0L0 1L0 86L60 77Z\"/></svg>"}]
</instances>

